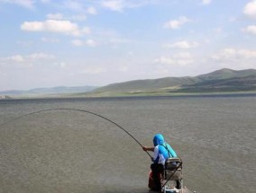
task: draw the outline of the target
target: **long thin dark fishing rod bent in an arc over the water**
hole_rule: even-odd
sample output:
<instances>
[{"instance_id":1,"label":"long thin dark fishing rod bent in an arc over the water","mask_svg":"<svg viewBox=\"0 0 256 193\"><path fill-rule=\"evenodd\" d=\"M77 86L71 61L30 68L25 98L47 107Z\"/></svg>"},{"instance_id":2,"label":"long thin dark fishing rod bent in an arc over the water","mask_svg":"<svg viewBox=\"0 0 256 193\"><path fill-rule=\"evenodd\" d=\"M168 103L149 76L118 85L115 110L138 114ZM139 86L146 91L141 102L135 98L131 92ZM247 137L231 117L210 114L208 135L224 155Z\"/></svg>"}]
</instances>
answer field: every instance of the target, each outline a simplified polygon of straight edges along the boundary
<instances>
[{"instance_id":1,"label":"long thin dark fishing rod bent in an arc over the water","mask_svg":"<svg viewBox=\"0 0 256 193\"><path fill-rule=\"evenodd\" d=\"M76 110L76 111L80 111L80 112L83 112L83 113L88 113L88 114L91 114L91 115L95 115L96 117L99 117L99 118L104 118L105 120L111 122L112 124L114 124L116 127L119 127L120 129L122 129L127 135L131 136L133 138L133 140L138 144L140 145L141 147L142 144L132 135L130 134L126 129L124 129L123 127L121 127L120 125L118 125L117 123L115 123L113 120L109 119L109 118L105 118L104 116L102 115L99 115L95 112L92 112L92 111L89 111L89 110L79 110L79 109L73 109L73 108L54 108L54 109L48 109L48 110L37 110L37 111L33 111L31 113L28 113L28 114L25 114L25 115L22 115L22 116L19 116L17 118L13 118L9 121L6 121L5 123L1 124L0 127L3 127L11 122L14 122L15 120L17 119L20 119L20 118L23 118L23 117L27 117L27 116L31 116L33 114L38 114L38 113L41 113L41 112L46 112L46 111L53 111L53 110ZM149 154L148 152L146 152L150 157L151 157L151 154ZM152 158L152 157L151 157Z\"/></svg>"}]
</instances>

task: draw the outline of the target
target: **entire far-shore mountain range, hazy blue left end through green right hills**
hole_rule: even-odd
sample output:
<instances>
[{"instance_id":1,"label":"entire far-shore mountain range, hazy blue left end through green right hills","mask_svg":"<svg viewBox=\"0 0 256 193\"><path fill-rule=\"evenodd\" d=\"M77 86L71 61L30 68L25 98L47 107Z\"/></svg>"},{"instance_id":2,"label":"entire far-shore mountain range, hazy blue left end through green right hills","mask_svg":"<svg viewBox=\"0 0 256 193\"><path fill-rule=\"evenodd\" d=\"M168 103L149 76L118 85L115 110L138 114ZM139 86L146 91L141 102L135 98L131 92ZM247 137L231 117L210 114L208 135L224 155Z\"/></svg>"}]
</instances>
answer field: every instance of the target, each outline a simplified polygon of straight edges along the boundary
<instances>
[{"instance_id":1,"label":"entire far-shore mountain range, hazy blue left end through green right hills","mask_svg":"<svg viewBox=\"0 0 256 193\"><path fill-rule=\"evenodd\" d=\"M34 97L109 97L136 95L171 95L213 92L256 92L256 69L232 70L223 68L214 72L184 77L132 80L96 86L56 86L27 91L5 91L0 95L14 98Z\"/></svg>"}]
</instances>

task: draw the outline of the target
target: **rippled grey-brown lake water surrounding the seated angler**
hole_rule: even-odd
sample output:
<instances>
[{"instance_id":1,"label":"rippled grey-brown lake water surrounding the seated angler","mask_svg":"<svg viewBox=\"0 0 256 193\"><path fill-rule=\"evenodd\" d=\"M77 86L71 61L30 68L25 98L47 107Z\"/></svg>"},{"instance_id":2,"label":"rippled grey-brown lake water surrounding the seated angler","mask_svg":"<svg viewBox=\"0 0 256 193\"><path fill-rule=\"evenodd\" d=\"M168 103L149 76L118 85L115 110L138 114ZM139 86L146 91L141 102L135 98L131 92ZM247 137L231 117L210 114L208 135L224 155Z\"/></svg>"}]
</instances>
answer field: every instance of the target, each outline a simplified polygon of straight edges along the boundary
<instances>
[{"instance_id":1,"label":"rippled grey-brown lake water surrounding the seated angler","mask_svg":"<svg viewBox=\"0 0 256 193\"><path fill-rule=\"evenodd\" d=\"M0 101L0 125L51 108L93 111L142 145L162 133L183 160L190 190L255 192L255 96ZM81 111L45 111L0 127L1 193L146 193L150 164L122 129Z\"/></svg>"}]
</instances>

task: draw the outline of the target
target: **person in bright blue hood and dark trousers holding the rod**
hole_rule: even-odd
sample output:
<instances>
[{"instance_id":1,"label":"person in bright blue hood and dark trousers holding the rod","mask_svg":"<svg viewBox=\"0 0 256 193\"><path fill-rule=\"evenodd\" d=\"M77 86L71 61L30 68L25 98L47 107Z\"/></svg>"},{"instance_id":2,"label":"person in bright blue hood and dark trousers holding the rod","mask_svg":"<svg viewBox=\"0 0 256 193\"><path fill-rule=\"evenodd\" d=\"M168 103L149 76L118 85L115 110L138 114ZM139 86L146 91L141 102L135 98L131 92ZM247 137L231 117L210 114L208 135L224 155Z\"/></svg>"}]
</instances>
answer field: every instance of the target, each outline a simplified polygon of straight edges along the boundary
<instances>
[{"instance_id":1,"label":"person in bright blue hood and dark trousers holding the rod","mask_svg":"<svg viewBox=\"0 0 256 193\"><path fill-rule=\"evenodd\" d=\"M161 189L159 173L163 172L165 161L170 157L177 157L176 152L171 148L169 144L164 141L164 137L161 134L156 134L153 137L152 147L142 146L144 151L151 151L154 153L152 157L151 171L152 177L155 182L155 189L159 191Z\"/></svg>"}]
</instances>

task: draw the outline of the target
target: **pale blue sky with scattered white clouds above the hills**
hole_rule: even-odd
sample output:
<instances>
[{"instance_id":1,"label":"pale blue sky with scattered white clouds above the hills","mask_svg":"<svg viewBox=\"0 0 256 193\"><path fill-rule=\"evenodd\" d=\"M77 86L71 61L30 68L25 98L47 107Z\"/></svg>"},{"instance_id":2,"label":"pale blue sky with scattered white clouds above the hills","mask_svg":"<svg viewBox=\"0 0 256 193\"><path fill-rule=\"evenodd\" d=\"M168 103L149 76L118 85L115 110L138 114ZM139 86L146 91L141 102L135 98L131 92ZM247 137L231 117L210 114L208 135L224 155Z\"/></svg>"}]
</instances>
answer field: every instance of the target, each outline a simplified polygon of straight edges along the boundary
<instances>
[{"instance_id":1,"label":"pale blue sky with scattered white clouds above the hills","mask_svg":"<svg viewBox=\"0 0 256 193\"><path fill-rule=\"evenodd\" d=\"M0 91L256 68L256 0L0 0Z\"/></svg>"}]
</instances>

